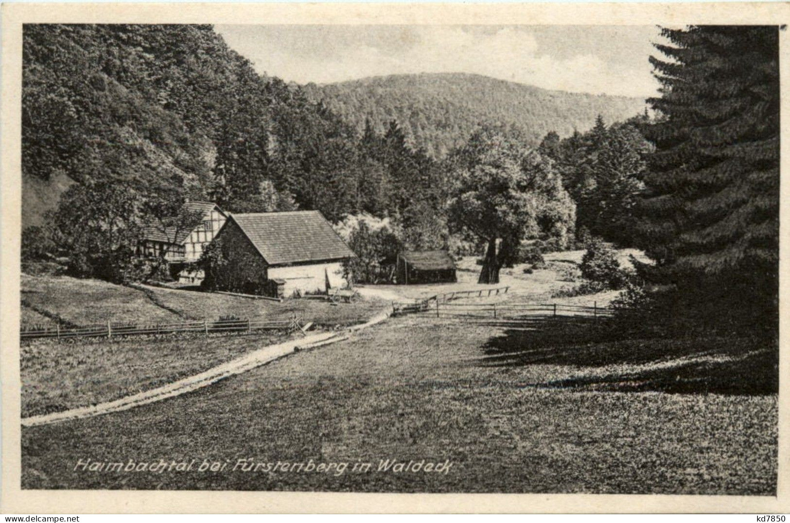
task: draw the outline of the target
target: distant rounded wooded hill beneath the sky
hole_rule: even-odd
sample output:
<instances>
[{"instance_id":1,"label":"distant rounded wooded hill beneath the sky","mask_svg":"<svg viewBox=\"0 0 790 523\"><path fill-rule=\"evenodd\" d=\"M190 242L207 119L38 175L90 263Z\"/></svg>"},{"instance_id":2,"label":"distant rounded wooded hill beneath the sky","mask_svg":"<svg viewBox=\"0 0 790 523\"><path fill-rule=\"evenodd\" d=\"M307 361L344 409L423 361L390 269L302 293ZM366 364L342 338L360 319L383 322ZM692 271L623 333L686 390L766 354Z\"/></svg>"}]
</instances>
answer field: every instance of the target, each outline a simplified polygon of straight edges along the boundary
<instances>
[{"instance_id":1,"label":"distant rounded wooded hill beneath the sky","mask_svg":"<svg viewBox=\"0 0 790 523\"><path fill-rule=\"evenodd\" d=\"M366 119L379 132L397 120L408 140L434 158L461 147L480 124L511 125L534 146L550 131L590 129L599 114L611 123L645 110L644 99L547 91L466 73L307 84L305 91L359 131Z\"/></svg>"}]
</instances>

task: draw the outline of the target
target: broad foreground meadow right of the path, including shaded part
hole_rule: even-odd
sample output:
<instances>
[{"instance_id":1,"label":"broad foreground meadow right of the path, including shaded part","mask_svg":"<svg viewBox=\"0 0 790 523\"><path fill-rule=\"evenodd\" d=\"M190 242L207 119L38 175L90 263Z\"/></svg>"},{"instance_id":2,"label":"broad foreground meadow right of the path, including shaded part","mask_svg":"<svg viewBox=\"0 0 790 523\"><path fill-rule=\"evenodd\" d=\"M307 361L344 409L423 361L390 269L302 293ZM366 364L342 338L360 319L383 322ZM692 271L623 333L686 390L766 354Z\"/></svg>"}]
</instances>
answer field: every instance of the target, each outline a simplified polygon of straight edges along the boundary
<instances>
[{"instance_id":1,"label":"broad foreground meadow right of the path, including shaded part","mask_svg":"<svg viewBox=\"0 0 790 523\"><path fill-rule=\"evenodd\" d=\"M24 428L23 488L773 495L777 396L747 383L760 372L750 354L775 348L713 338L668 352L663 340L584 333L558 343L562 326L551 329L390 319L178 398ZM85 458L373 469L75 471ZM378 472L382 459L453 466Z\"/></svg>"}]
</instances>

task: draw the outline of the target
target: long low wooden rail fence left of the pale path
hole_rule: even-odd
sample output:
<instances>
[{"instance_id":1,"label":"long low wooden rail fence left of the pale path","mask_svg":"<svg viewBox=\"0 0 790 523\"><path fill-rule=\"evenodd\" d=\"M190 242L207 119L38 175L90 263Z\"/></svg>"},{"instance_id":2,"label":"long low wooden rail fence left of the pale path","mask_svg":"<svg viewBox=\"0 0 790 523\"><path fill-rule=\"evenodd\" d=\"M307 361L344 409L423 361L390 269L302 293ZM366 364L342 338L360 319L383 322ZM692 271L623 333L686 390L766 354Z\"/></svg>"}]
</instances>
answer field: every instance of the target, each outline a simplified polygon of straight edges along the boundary
<instances>
[{"instance_id":1,"label":"long low wooden rail fence left of the pale path","mask_svg":"<svg viewBox=\"0 0 790 523\"><path fill-rule=\"evenodd\" d=\"M118 338L122 336L140 336L157 334L174 334L180 332L197 332L205 335L216 333L239 333L272 330L295 330L301 328L302 316L292 316L290 319L225 319L217 321L191 321L185 323L152 323L136 324L111 323L92 325L88 327L47 327L43 329L21 329L22 340L39 338Z\"/></svg>"}]
</instances>

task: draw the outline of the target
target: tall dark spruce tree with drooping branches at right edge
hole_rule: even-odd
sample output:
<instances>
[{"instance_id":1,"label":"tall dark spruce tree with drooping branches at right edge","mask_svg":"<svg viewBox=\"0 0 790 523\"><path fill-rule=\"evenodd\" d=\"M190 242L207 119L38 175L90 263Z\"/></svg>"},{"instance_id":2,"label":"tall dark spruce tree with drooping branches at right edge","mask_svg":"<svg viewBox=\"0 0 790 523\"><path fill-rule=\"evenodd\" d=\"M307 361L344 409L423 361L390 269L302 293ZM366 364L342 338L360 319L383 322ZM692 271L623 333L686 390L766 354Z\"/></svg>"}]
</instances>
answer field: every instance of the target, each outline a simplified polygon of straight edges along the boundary
<instances>
[{"instance_id":1,"label":"tall dark spruce tree with drooping branches at right edge","mask_svg":"<svg viewBox=\"0 0 790 523\"><path fill-rule=\"evenodd\" d=\"M687 312L777 321L778 28L664 29L639 243ZM690 311L688 305L697 304ZM737 304L737 307L733 307ZM710 315L713 316L713 315Z\"/></svg>"}]
</instances>

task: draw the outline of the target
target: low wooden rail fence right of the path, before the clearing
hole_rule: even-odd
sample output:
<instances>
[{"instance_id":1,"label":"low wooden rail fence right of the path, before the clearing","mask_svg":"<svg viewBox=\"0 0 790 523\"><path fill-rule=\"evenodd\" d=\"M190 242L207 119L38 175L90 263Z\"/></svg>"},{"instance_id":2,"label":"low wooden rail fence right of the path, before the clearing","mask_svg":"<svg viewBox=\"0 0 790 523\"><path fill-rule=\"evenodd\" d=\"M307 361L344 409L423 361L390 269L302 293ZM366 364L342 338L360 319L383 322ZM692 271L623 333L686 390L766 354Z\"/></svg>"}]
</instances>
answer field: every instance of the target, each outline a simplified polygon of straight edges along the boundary
<instances>
[{"instance_id":1,"label":"low wooden rail fence right of the path, before the clearing","mask_svg":"<svg viewBox=\"0 0 790 523\"><path fill-rule=\"evenodd\" d=\"M555 317L575 319L600 319L612 315L611 308L566 304L457 304L442 301L418 301L393 304L393 315L416 314L446 319L497 319L523 321Z\"/></svg>"}]
</instances>

